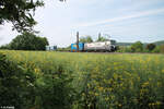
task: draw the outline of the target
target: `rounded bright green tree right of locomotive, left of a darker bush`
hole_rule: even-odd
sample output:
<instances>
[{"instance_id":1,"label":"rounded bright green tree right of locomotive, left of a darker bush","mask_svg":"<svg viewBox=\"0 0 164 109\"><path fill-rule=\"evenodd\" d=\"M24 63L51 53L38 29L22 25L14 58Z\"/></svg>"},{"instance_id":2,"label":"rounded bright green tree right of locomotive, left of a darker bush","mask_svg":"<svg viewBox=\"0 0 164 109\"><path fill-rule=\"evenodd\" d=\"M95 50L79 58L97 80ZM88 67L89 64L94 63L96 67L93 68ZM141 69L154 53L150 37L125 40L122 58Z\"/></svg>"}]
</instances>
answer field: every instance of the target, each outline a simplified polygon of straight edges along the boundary
<instances>
[{"instance_id":1,"label":"rounded bright green tree right of locomotive, left of a darker bush","mask_svg":"<svg viewBox=\"0 0 164 109\"><path fill-rule=\"evenodd\" d=\"M143 44L141 41L137 41L131 45L132 52L141 52L143 50Z\"/></svg>"}]
</instances>

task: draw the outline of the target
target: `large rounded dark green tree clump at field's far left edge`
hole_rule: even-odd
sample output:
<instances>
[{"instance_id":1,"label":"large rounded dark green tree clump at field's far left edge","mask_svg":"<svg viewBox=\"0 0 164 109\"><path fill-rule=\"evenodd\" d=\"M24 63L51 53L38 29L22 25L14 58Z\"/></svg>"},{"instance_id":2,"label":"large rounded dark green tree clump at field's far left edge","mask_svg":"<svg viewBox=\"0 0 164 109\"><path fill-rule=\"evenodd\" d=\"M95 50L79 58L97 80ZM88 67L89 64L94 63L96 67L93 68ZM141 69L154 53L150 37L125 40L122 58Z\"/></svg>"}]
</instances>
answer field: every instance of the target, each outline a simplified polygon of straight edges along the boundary
<instances>
[{"instance_id":1,"label":"large rounded dark green tree clump at field's far left edge","mask_svg":"<svg viewBox=\"0 0 164 109\"><path fill-rule=\"evenodd\" d=\"M37 37L32 33L23 33L10 43L11 49L14 50L45 50L47 45L46 37Z\"/></svg>"}]
</instances>

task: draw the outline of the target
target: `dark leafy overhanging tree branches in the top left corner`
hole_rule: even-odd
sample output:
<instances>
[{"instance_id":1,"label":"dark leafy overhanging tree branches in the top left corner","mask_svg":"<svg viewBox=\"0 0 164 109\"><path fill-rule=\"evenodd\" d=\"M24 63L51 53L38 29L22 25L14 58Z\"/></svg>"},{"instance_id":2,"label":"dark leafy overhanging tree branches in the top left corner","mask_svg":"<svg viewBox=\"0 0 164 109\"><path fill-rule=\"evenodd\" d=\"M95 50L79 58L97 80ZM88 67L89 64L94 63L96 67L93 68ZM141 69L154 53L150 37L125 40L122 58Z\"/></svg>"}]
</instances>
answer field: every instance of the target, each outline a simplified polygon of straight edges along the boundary
<instances>
[{"instance_id":1,"label":"dark leafy overhanging tree branches in the top left corner","mask_svg":"<svg viewBox=\"0 0 164 109\"><path fill-rule=\"evenodd\" d=\"M36 24L32 11L34 13L36 8L43 5L43 0L0 0L0 24L7 21L17 32L32 31Z\"/></svg>"}]
</instances>

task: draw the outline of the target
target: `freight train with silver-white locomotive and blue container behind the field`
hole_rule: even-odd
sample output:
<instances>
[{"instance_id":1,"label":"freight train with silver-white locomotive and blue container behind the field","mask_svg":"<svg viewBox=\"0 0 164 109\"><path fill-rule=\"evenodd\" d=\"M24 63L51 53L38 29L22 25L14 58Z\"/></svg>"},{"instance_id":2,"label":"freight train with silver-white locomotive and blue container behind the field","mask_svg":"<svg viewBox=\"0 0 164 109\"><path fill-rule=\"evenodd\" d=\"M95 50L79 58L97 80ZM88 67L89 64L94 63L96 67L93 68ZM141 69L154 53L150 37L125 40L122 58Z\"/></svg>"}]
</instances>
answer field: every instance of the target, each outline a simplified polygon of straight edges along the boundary
<instances>
[{"instance_id":1,"label":"freight train with silver-white locomotive and blue container behind the field","mask_svg":"<svg viewBox=\"0 0 164 109\"><path fill-rule=\"evenodd\" d=\"M117 49L115 40L97 43L79 43L79 51L115 51ZM77 44L71 44L71 52L77 52Z\"/></svg>"}]
</instances>

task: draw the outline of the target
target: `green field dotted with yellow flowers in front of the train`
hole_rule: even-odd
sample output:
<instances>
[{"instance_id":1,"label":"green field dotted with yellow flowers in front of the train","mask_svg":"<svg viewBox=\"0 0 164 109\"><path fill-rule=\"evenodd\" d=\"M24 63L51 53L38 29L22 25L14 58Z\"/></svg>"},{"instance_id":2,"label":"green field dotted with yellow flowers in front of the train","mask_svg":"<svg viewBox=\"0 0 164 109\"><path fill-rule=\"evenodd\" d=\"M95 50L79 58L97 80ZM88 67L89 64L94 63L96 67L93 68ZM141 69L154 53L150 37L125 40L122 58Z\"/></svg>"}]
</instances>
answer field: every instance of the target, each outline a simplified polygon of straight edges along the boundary
<instances>
[{"instance_id":1,"label":"green field dotted with yellow flowers in front of the train","mask_svg":"<svg viewBox=\"0 0 164 109\"><path fill-rule=\"evenodd\" d=\"M49 85L42 78L45 74L66 74L68 80L72 80L67 86L74 90L71 93L72 109L164 107L163 55L14 50L0 52L21 68L31 70L42 87Z\"/></svg>"}]
</instances>

